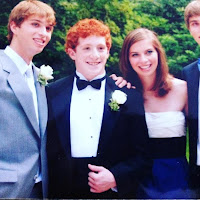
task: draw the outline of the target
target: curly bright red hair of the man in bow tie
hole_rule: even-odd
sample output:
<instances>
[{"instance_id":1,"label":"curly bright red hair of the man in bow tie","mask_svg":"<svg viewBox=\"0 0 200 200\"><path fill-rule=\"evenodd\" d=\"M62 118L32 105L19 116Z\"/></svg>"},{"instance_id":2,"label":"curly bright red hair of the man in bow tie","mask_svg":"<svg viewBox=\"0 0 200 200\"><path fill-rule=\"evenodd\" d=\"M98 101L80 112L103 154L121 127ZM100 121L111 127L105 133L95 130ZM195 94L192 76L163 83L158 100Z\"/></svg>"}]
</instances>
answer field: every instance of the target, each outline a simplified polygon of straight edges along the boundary
<instances>
[{"instance_id":1,"label":"curly bright red hair of the man in bow tie","mask_svg":"<svg viewBox=\"0 0 200 200\"><path fill-rule=\"evenodd\" d=\"M106 46L110 50L112 41L109 27L97 19L86 18L78 21L69 29L65 43L66 53L68 53L69 48L76 50L79 38L86 38L91 35L105 37Z\"/></svg>"}]
</instances>

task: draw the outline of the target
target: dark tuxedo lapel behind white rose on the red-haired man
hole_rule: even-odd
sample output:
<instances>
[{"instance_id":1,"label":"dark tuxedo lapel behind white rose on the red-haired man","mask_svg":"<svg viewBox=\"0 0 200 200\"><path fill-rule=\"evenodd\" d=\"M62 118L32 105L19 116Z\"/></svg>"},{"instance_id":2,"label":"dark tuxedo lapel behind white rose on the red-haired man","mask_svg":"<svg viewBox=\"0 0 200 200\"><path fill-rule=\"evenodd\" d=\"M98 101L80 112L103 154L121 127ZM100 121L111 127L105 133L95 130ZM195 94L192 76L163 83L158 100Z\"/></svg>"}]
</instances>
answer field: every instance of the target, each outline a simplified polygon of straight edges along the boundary
<instances>
[{"instance_id":1,"label":"dark tuxedo lapel behind white rose on the red-haired man","mask_svg":"<svg viewBox=\"0 0 200 200\"><path fill-rule=\"evenodd\" d=\"M101 133L99 138L99 145L98 145L98 153L101 154L102 150L109 145L109 138L112 137L113 128L117 119L120 116L120 112L111 111L110 106L108 103L110 102L111 95L114 90L117 89L115 83L111 78L106 78L106 87L105 87L105 102L104 102L104 113L103 113L103 120L101 125Z\"/></svg>"}]
</instances>

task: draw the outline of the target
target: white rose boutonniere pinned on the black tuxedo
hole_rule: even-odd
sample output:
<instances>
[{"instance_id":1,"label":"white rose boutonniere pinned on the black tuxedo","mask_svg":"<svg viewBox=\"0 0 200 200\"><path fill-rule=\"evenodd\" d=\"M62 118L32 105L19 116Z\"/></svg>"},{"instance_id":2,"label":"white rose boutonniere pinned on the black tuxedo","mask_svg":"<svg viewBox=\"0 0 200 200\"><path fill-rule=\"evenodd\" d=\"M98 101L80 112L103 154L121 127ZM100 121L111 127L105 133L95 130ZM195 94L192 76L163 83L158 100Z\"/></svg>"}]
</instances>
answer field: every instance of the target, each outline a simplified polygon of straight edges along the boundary
<instances>
[{"instance_id":1,"label":"white rose boutonniere pinned on the black tuxedo","mask_svg":"<svg viewBox=\"0 0 200 200\"><path fill-rule=\"evenodd\" d=\"M110 99L110 103L108 104L113 111L119 111L120 105L124 104L127 100L127 94L120 90L115 90L112 93L112 98Z\"/></svg>"}]
</instances>

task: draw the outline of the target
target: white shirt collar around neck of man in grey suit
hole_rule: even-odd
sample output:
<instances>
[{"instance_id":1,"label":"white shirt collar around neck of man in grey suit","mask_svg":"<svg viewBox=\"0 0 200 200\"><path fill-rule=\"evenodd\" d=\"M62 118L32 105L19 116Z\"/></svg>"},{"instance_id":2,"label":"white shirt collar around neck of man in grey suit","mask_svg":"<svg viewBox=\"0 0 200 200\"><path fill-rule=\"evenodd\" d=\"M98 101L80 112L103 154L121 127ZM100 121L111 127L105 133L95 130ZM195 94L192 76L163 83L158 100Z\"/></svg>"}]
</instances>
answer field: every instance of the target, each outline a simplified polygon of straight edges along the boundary
<instances>
[{"instance_id":1,"label":"white shirt collar around neck of man in grey suit","mask_svg":"<svg viewBox=\"0 0 200 200\"><path fill-rule=\"evenodd\" d=\"M4 53L16 64L17 68L19 69L20 73L24 75L26 70L32 66L32 61L29 65L24 61L24 59L17 54L10 46L7 46L4 50Z\"/></svg>"}]
</instances>

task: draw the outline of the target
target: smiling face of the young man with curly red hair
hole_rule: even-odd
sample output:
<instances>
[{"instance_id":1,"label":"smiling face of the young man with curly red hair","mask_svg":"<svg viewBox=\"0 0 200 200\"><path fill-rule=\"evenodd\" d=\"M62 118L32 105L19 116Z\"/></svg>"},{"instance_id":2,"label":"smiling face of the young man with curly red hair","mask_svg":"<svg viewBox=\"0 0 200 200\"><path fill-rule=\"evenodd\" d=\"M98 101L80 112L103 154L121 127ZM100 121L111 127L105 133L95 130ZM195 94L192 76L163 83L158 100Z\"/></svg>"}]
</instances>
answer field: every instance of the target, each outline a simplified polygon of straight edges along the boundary
<instances>
[{"instance_id":1,"label":"smiling face of the young man with curly red hair","mask_svg":"<svg viewBox=\"0 0 200 200\"><path fill-rule=\"evenodd\" d=\"M109 57L105 37L89 36L79 38L76 49L68 49L69 56L75 61L76 70L87 80L103 74Z\"/></svg>"}]
</instances>

